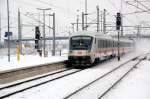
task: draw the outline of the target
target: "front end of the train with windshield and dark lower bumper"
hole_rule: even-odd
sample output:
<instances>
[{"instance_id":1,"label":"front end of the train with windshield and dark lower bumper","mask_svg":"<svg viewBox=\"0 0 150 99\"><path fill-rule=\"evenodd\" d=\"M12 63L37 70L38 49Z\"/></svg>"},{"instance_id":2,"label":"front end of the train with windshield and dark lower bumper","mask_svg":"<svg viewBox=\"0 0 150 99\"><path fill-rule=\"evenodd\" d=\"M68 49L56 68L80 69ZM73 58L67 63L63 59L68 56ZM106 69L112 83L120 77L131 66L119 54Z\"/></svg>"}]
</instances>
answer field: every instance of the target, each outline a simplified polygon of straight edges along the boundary
<instances>
[{"instance_id":1,"label":"front end of the train with windshield and dark lower bumper","mask_svg":"<svg viewBox=\"0 0 150 99\"><path fill-rule=\"evenodd\" d=\"M93 37L72 36L70 37L68 61L71 65L86 66L91 64L91 48Z\"/></svg>"}]
</instances>

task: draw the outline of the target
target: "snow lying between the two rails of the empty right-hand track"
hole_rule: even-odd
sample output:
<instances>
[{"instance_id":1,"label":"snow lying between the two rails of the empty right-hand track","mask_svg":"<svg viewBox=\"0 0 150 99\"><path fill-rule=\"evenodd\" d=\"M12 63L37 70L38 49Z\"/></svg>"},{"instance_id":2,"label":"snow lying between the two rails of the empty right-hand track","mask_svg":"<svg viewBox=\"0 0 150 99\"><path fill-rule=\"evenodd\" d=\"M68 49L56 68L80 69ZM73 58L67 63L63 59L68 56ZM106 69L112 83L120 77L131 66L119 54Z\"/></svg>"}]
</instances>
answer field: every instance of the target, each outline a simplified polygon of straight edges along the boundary
<instances>
[{"instance_id":1,"label":"snow lying between the two rails of the empty right-hand track","mask_svg":"<svg viewBox=\"0 0 150 99\"><path fill-rule=\"evenodd\" d=\"M121 68L115 70L104 78L96 81L85 89L79 91L69 99L98 99L107 89L109 89L118 79L130 70L137 61L131 61Z\"/></svg>"}]
</instances>

